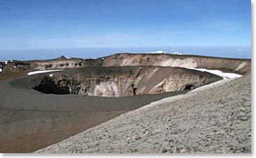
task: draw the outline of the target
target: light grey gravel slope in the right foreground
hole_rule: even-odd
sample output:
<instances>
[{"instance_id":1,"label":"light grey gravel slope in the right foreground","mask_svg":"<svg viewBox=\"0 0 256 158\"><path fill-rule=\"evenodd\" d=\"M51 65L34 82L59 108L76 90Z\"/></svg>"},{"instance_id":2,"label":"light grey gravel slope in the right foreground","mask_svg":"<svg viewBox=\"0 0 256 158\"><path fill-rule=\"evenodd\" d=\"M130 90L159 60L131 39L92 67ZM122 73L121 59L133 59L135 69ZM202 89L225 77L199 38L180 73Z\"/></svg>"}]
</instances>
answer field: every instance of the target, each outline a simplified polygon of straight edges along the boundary
<instances>
[{"instance_id":1,"label":"light grey gravel slope in the right foreground","mask_svg":"<svg viewBox=\"0 0 256 158\"><path fill-rule=\"evenodd\" d=\"M251 76L153 102L36 152L250 153Z\"/></svg>"}]
</instances>

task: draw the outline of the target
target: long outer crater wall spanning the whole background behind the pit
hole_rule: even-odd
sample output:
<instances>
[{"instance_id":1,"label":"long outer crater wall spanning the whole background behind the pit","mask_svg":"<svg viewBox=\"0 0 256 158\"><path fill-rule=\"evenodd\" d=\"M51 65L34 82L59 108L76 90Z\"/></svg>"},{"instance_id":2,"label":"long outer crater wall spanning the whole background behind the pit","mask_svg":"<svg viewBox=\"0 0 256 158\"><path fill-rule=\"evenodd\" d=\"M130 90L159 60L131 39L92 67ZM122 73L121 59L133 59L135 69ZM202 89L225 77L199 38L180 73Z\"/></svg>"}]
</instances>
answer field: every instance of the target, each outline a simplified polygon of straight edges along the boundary
<instances>
[{"instance_id":1,"label":"long outer crater wall spanning the whole background behind the pit","mask_svg":"<svg viewBox=\"0 0 256 158\"><path fill-rule=\"evenodd\" d=\"M65 56L61 56L45 61L14 61L8 63L3 68L3 72L144 65L206 68L211 70L222 70L223 72L247 74L250 72L251 61L250 59L174 54L114 54L96 59L66 58Z\"/></svg>"}]
</instances>

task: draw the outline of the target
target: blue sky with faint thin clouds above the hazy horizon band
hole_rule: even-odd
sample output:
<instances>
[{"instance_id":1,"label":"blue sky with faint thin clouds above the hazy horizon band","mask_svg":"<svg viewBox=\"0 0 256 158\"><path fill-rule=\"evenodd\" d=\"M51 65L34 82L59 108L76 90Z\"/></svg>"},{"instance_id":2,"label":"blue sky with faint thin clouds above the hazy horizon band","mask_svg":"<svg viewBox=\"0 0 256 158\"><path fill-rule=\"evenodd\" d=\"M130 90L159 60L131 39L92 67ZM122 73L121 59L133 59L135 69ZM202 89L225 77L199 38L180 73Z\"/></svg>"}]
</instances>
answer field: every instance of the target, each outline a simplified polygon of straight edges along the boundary
<instances>
[{"instance_id":1,"label":"blue sky with faint thin clouds above the hazy horizon band","mask_svg":"<svg viewBox=\"0 0 256 158\"><path fill-rule=\"evenodd\" d=\"M0 49L247 46L250 0L1 0Z\"/></svg>"}]
</instances>

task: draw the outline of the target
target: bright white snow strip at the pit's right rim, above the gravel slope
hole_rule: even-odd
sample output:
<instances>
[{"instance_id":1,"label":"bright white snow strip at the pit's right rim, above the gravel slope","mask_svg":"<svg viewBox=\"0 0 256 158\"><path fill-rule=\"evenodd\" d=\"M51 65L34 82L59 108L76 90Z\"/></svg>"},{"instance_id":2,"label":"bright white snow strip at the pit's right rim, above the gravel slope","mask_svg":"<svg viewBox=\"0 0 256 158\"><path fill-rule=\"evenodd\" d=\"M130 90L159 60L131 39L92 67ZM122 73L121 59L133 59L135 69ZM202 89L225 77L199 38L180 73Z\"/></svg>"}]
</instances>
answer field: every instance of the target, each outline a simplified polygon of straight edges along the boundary
<instances>
[{"instance_id":1,"label":"bright white snow strip at the pit's right rim, above the gravel slope","mask_svg":"<svg viewBox=\"0 0 256 158\"><path fill-rule=\"evenodd\" d=\"M209 72L211 74L216 74L220 77L223 77L223 79L233 79L233 78L237 78L237 77L242 76L240 74L222 72L220 70L208 70L208 69L204 69L204 68L192 68L192 67L186 67L186 68L187 69L198 70L198 71L202 71L202 72Z\"/></svg>"}]
</instances>

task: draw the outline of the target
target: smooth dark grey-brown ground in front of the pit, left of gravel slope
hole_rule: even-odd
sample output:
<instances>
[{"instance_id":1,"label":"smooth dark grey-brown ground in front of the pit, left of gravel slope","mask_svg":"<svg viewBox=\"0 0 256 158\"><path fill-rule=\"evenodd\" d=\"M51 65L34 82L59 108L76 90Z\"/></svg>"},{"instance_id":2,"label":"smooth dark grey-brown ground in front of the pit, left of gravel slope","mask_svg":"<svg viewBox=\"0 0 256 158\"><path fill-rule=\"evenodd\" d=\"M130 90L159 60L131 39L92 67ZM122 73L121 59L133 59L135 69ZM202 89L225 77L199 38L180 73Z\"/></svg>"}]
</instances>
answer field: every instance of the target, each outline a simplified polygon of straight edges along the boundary
<instances>
[{"instance_id":1,"label":"smooth dark grey-brown ground in front of the pit, left of gravel slope","mask_svg":"<svg viewBox=\"0 0 256 158\"><path fill-rule=\"evenodd\" d=\"M26 78L26 77L24 77ZM45 95L17 80L0 83L0 152L33 152L164 97ZM12 83L12 84L10 84Z\"/></svg>"}]
</instances>

